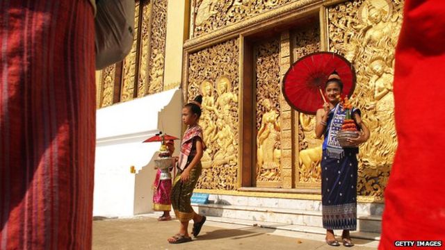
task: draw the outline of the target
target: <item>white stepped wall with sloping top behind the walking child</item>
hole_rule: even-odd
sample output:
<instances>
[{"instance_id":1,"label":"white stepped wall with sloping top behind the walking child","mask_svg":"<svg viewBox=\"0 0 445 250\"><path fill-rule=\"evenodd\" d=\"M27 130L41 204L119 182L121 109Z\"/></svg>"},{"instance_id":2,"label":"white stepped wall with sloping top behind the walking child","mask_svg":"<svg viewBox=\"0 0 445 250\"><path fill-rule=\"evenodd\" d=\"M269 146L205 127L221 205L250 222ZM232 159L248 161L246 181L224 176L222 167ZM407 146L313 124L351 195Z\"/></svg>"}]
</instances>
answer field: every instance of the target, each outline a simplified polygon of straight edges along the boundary
<instances>
[{"instance_id":1,"label":"white stepped wall with sloping top behind the walking child","mask_svg":"<svg viewBox=\"0 0 445 250\"><path fill-rule=\"evenodd\" d=\"M94 216L152 210L156 170L150 161L160 143L142 142L159 131L180 138L181 106L181 90L174 89L97 110ZM130 173L132 165L137 174Z\"/></svg>"}]
</instances>

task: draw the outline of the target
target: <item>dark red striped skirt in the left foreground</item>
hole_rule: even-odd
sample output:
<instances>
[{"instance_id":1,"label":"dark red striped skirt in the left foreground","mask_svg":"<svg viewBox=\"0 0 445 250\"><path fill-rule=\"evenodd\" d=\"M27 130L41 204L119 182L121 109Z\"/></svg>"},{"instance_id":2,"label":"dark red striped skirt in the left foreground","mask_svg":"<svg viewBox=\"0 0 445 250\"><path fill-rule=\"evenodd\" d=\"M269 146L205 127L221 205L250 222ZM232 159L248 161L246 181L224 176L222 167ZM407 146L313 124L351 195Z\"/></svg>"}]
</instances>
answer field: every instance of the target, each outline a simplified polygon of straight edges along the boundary
<instances>
[{"instance_id":1,"label":"dark red striped skirt in the left foreground","mask_svg":"<svg viewBox=\"0 0 445 250\"><path fill-rule=\"evenodd\" d=\"M90 249L95 26L86 0L0 0L0 249Z\"/></svg>"}]
</instances>

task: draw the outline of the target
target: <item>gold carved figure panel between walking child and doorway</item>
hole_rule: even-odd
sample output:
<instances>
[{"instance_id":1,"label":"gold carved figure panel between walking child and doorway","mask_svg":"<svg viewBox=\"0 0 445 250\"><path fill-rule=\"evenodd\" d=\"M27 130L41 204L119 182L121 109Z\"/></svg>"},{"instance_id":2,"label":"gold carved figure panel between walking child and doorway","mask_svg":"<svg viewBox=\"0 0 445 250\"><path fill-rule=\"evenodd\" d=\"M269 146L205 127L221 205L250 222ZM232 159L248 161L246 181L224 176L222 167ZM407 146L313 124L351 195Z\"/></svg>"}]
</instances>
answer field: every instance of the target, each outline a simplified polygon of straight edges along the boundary
<instances>
[{"instance_id":1,"label":"gold carved figure panel between walking child and doorway","mask_svg":"<svg viewBox=\"0 0 445 250\"><path fill-rule=\"evenodd\" d=\"M202 94L207 149L197 188L235 190L238 174L238 39L191 53L188 58L188 101Z\"/></svg>"}]
</instances>

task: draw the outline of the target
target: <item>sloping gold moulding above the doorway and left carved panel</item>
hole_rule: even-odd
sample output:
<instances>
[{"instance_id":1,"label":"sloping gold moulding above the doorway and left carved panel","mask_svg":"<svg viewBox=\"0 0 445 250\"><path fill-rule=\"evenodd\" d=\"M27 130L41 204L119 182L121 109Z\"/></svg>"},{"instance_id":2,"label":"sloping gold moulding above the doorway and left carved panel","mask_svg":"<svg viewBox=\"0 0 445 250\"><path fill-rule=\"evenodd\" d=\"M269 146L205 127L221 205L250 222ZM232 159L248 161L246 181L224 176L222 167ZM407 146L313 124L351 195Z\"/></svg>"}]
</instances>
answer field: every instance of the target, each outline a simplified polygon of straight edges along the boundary
<instances>
[{"instance_id":1,"label":"sloping gold moulding above the doorway and left carved panel","mask_svg":"<svg viewBox=\"0 0 445 250\"><path fill-rule=\"evenodd\" d=\"M186 40L184 42L184 49L191 51L197 50L202 47L209 47L211 44L220 42L221 40L229 40L234 38L234 35L239 33L245 33L247 31L257 30L257 28L264 28L268 24L276 24L284 20L293 19L302 14L306 14L311 10L317 10L320 8L323 0L302 0L294 3L288 3L285 6L268 10L262 14L245 19L245 21L231 24L225 28L221 28L217 31L212 31L205 35L200 35L197 38Z\"/></svg>"}]
</instances>

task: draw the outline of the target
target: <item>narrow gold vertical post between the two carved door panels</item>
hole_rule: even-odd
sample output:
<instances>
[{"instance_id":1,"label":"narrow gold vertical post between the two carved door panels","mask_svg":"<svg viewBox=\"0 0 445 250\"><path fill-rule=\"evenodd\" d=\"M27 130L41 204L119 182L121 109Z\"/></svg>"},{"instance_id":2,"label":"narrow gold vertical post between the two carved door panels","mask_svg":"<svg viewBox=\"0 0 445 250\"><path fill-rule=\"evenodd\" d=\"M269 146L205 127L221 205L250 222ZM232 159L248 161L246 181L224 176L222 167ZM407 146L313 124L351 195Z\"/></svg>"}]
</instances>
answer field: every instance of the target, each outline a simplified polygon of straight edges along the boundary
<instances>
[{"instance_id":1,"label":"narrow gold vertical post between the two carved door panels","mask_svg":"<svg viewBox=\"0 0 445 250\"><path fill-rule=\"evenodd\" d=\"M281 33L280 42L280 83L291 66L291 42L289 31ZM292 110L280 88L281 161L283 188L292 188Z\"/></svg>"}]
</instances>

